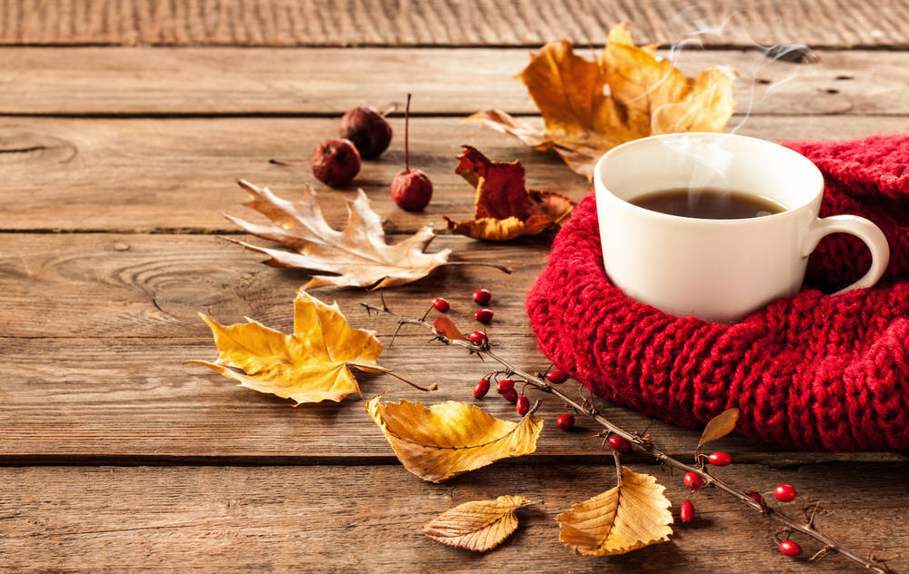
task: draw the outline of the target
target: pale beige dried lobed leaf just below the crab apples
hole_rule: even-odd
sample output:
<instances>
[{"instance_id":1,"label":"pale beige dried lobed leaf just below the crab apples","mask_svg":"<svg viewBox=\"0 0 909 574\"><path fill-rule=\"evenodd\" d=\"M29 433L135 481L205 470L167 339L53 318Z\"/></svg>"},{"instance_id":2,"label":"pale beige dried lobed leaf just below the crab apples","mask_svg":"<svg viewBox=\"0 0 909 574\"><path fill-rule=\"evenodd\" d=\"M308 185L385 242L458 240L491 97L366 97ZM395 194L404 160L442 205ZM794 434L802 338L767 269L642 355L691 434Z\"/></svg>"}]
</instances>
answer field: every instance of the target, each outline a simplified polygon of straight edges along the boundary
<instances>
[{"instance_id":1,"label":"pale beige dried lobed leaf just below the crab apples","mask_svg":"<svg viewBox=\"0 0 909 574\"><path fill-rule=\"evenodd\" d=\"M246 249L265 253L265 262L273 267L295 267L336 275L313 275L303 289L324 285L336 287L369 287L379 289L414 282L436 267L448 262L450 249L425 253L423 250L435 238L432 228L424 227L405 241L389 245L385 242L382 218L369 207L363 190L357 191L354 201L347 200L347 225L337 231L325 222L315 192L307 185L303 199L288 202L268 190L245 181L240 187L251 199L244 203L255 209L274 225L258 225L225 215L246 233L283 243L295 252L269 249L239 243Z\"/></svg>"}]
</instances>

